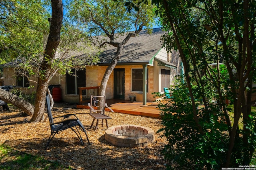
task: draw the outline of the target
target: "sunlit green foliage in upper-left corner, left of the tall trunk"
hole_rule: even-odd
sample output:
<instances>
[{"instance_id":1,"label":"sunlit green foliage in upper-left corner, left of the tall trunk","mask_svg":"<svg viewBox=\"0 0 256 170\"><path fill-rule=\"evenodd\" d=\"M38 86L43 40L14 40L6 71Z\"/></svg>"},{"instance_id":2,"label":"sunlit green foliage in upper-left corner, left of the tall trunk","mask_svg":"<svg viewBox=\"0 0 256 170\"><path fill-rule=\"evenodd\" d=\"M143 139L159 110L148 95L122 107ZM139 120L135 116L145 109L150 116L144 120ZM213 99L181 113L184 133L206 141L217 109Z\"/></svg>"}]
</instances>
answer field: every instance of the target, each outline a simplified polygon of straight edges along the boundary
<instances>
[{"instance_id":1,"label":"sunlit green foliage in upper-left corner, left of the tall trunk","mask_svg":"<svg viewBox=\"0 0 256 170\"><path fill-rule=\"evenodd\" d=\"M42 53L50 13L41 1L1 0L0 15L0 63Z\"/></svg>"}]
</instances>

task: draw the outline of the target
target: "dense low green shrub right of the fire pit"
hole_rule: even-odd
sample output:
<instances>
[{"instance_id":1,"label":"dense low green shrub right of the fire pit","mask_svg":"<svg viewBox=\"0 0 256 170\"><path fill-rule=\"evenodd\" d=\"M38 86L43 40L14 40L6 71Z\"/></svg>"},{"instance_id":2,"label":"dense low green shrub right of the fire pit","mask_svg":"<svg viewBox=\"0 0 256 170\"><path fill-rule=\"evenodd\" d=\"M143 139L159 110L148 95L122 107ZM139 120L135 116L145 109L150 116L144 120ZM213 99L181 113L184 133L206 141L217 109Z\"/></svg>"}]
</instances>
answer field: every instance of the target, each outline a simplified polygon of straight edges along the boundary
<instances>
[{"instance_id":1,"label":"dense low green shrub right of the fire pit","mask_svg":"<svg viewBox=\"0 0 256 170\"><path fill-rule=\"evenodd\" d=\"M163 132L168 140L168 145L163 149L165 158L169 160L169 169L221 169L226 163L226 152L229 145L228 125L223 119L222 109L218 104L207 101L208 109L205 109L200 97L200 90L193 86L192 91L196 97L196 107L201 133L194 121L192 103L186 84L181 81L179 85L170 89L173 99L166 103L158 104L162 115L162 125L164 128L158 132ZM212 99L217 94L208 90L204 94ZM161 96L154 93L155 96ZM248 123L248 128L254 127L255 117L251 117L252 122ZM232 154L233 162L236 167L241 165L244 159L246 146L243 145L243 130L238 129L239 137L236 139L235 147ZM254 147L255 136L251 134L250 142Z\"/></svg>"}]
</instances>

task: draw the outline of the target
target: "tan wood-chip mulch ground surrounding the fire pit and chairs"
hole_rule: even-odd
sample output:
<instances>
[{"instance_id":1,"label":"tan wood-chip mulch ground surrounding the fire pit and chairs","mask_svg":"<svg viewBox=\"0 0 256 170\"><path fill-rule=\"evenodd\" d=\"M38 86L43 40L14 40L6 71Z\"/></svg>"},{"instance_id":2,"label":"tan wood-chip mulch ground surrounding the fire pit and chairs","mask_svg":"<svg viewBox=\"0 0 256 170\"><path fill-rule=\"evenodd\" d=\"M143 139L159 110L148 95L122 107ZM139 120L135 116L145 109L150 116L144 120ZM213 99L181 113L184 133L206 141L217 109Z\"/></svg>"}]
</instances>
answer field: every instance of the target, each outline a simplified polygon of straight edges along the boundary
<instances>
[{"instance_id":1,"label":"tan wood-chip mulch ground surrounding the fire pit and chairs","mask_svg":"<svg viewBox=\"0 0 256 170\"><path fill-rule=\"evenodd\" d=\"M0 145L4 144L12 149L32 155L44 156L47 160L55 160L64 166L77 170L164 170L166 160L161 151L167 144L166 138L156 133L162 128L161 120L129 115L110 113L112 119L109 126L134 124L150 127L155 131L156 140L147 147L115 147L104 139L106 125L97 131L90 129L92 117L88 109L76 109L74 104L54 104L53 116L66 113L76 113L86 128L92 145L88 145L86 136L82 133L85 143L83 147L71 130L65 130L53 138L47 150L50 136L50 126L46 122L27 123L31 116L26 116L19 109L10 106L10 110L0 110ZM82 132L82 131L80 131ZM0 162L1 163L1 162Z\"/></svg>"}]
</instances>

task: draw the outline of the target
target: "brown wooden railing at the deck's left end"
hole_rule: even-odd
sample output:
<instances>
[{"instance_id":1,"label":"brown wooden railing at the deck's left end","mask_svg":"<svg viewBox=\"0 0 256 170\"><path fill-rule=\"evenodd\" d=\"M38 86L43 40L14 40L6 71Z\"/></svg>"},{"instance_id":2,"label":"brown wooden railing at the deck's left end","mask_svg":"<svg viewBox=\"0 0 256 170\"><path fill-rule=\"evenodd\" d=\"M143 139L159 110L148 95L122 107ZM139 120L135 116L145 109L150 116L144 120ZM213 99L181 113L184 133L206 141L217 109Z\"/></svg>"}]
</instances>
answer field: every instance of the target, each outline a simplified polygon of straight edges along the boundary
<instances>
[{"instance_id":1,"label":"brown wooden railing at the deck's left end","mask_svg":"<svg viewBox=\"0 0 256 170\"><path fill-rule=\"evenodd\" d=\"M90 102L90 96L97 96L99 93L99 86L94 87L78 87L79 89L79 104L83 105Z\"/></svg>"}]
</instances>

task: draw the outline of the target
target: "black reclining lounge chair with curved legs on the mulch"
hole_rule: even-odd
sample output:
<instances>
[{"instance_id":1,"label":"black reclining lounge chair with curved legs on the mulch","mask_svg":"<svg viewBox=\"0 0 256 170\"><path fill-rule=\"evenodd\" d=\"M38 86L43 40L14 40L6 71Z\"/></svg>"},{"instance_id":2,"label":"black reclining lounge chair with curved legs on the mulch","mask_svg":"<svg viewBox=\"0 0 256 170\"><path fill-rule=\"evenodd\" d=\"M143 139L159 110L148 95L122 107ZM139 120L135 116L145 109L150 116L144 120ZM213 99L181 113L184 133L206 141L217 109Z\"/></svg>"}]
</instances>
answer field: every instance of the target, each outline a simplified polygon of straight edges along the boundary
<instances>
[{"instance_id":1,"label":"black reclining lounge chair with curved legs on the mulch","mask_svg":"<svg viewBox=\"0 0 256 170\"><path fill-rule=\"evenodd\" d=\"M45 149L47 149L50 141L52 141L52 138L57 133L60 133L61 131L64 131L64 130L69 129L69 128L72 129L72 131L74 131L76 133L80 142L84 146L84 142L82 140L82 136L81 136L80 132L78 131L78 127L82 128L82 130L84 131L84 133L87 137L88 144L90 145L90 141L88 139L88 136L87 136L87 133L84 129L84 126L82 125L82 123L78 119L78 117L76 117L76 114L69 113L69 114L66 114L66 115L60 115L60 116L52 117L52 111L51 111L51 108L50 108L50 96L49 95L46 96L46 102L47 102L47 113L48 113L48 117L49 117L49 121L50 121L50 127L51 127L51 135L48 139L48 142L47 142L47 145L46 145ZM69 118L71 116L73 116L74 118ZM56 119L56 118L61 118L62 120L54 122L53 120Z\"/></svg>"}]
</instances>

